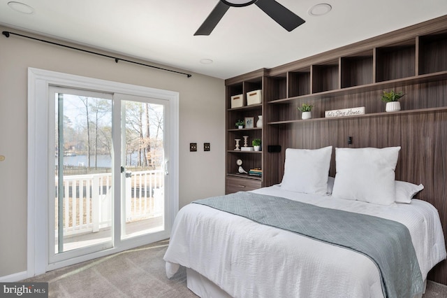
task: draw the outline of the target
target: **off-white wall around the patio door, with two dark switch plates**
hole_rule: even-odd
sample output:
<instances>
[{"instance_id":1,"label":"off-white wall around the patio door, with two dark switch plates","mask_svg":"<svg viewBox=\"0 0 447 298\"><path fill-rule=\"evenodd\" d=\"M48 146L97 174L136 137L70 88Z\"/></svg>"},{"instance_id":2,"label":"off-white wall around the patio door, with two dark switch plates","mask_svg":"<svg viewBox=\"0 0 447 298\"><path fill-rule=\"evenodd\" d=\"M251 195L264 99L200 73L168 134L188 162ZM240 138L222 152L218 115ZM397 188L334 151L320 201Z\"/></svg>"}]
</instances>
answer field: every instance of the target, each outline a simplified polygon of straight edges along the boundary
<instances>
[{"instance_id":1,"label":"off-white wall around the patio door, with two dark switch plates","mask_svg":"<svg viewBox=\"0 0 447 298\"><path fill-rule=\"evenodd\" d=\"M0 30L31 35L1 26ZM115 63L113 59L40 41L1 35L0 155L5 159L0 161L0 278L27 270L28 67L179 92L179 206L193 199L224 194L223 80L196 73L187 78L127 62ZM189 152L191 142L198 143L197 152ZM211 143L210 152L203 151L204 142Z\"/></svg>"}]
</instances>

